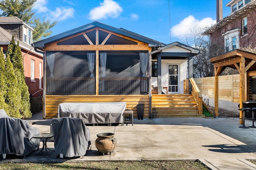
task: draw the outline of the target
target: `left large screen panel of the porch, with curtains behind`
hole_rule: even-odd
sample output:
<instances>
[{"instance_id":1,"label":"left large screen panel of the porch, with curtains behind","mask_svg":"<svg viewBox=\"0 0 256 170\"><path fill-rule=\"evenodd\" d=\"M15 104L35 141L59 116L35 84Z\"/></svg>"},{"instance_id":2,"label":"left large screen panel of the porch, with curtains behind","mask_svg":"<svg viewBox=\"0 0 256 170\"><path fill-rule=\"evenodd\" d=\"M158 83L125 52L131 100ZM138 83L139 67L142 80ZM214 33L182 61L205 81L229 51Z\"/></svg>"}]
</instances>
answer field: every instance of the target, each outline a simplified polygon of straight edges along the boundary
<instances>
[{"instance_id":1,"label":"left large screen panel of the porch, with curtains behind","mask_svg":"<svg viewBox=\"0 0 256 170\"><path fill-rule=\"evenodd\" d=\"M95 52L46 52L46 94L92 94L95 90Z\"/></svg>"}]
</instances>

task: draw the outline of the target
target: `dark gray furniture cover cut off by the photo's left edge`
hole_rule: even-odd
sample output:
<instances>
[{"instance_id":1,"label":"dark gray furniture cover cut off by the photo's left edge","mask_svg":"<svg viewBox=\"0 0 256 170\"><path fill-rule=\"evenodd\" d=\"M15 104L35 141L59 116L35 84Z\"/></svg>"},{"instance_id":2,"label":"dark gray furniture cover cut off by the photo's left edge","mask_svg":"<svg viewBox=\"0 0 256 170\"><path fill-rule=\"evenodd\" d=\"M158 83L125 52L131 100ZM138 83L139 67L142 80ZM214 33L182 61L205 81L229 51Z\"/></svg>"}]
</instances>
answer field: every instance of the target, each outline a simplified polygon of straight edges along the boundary
<instances>
[{"instance_id":1,"label":"dark gray furniture cover cut off by the photo's left edge","mask_svg":"<svg viewBox=\"0 0 256 170\"><path fill-rule=\"evenodd\" d=\"M39 147L40 140L33 138L38 133L28 121L9 117L0 109L0 154L29 154Z\"/></svg>"}]
</instances>

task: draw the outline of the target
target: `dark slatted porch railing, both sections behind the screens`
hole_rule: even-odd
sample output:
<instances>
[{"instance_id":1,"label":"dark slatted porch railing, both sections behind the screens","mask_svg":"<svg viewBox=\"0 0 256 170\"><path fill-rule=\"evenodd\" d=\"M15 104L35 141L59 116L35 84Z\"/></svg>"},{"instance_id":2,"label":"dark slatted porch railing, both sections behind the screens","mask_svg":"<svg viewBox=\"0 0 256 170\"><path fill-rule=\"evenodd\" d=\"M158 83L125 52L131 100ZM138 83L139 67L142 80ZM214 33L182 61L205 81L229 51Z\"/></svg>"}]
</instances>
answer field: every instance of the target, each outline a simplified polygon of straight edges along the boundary
<instances>
[{"instance_id":1,"label":"dark slatted porch railing, both sections behind the screens","mask_svg":"<svg viewBox=\"0 0 256 170\"><path fill-rule=\"evenodd\" d=\"M47 78L46 94L95 95L95 78ZM148 78L100 78L99 94L148 94Z\"/></svg>"}]
</instances>

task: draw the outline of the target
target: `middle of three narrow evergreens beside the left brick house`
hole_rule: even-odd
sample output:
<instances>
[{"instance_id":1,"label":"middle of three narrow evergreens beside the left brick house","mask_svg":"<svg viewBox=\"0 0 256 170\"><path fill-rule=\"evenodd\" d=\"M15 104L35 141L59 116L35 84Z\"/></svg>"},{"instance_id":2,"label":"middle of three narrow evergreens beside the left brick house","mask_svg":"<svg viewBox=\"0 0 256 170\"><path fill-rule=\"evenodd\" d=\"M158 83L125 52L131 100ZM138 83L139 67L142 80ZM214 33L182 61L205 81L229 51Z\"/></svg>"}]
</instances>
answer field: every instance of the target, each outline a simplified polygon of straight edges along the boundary
<instances>
[{"instance_id":1,"label":"middle of three narrow evergreens beside the left brick house","mask_svg":"<svg viewBox=\"0 0 256 170\"><path fill-rule=\"evenodd\" d=\"M18 87L18 80L14 73L14 68L10 60L10 56L6 56L5 60L6 69L6 94L4 96L6 104L8 104L8 115L10 117L22 118L20 114L21 105L21 91Z\"/></svg>"}]
</instances>

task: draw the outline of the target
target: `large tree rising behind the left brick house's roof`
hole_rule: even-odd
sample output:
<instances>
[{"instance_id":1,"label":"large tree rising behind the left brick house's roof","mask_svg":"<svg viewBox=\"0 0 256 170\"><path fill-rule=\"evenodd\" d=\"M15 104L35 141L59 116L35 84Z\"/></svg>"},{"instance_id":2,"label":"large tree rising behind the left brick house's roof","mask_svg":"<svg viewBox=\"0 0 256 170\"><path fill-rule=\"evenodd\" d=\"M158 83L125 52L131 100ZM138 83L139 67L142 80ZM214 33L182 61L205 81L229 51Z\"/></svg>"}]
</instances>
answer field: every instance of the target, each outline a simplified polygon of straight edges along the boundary
<instances>
[{"instance_id":1,"label":"large tree rising behind the left brick house's roof","mask_svg":"<svg viewBox=\"0 0 256 170\"><path fill-rule=\"evenodd\" d=\"M35 12L33 12L32 8L35 5L36 0L0 0L0 10L2 10L2 14L0 16L16 16L23 20L25 23L34 28L33 41L38 41L41 37L49 36L52 31L52 27L54 27L57 21L51 23L50 20L44 20L42 18L42 22L36 16L34 16Z\"/></svg>"}]
</instances>

